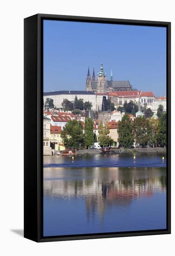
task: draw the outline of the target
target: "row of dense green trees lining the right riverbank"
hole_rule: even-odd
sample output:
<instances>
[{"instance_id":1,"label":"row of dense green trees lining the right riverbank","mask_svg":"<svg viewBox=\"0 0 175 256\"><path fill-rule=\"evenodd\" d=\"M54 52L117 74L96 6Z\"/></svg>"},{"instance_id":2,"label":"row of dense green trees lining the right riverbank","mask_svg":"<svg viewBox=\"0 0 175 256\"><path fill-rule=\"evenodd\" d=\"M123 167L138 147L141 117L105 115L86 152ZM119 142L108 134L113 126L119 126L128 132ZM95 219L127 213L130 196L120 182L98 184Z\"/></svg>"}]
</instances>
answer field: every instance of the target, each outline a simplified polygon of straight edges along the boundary
<instances>
[{"instance_id":1,"label":"row of dense green trees lining the right riverbank","mask_svg":"<svg viewBox=\"0 0 175 256\"><path fill-rule=\"evenodd\" d=\"M119 146L136 147L166 147L167 145L167 116L162 113L160 119L146 119L145 116L136 117L134 121L124 115L119 121Z\"/></svg>"}]
</instances>

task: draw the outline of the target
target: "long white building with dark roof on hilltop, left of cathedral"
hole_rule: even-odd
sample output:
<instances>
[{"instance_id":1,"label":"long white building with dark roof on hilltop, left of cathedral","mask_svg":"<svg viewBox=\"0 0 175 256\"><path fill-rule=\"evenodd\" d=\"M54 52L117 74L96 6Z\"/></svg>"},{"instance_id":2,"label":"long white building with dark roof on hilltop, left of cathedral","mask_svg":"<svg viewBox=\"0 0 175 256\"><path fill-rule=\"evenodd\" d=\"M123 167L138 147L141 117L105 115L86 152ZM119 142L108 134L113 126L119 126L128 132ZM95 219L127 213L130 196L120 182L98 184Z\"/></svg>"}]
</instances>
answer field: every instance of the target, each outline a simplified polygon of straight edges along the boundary
<instances>
[{"instance_id":1,"label":"long white building with dark roof on hilltop, left of cathedral","mask_svg":"<svg viewBox=\"0 0 175 256\"><path fill-rule=\"evenodd\" d=\"M56 108L62 108L62 102L64 99L74 102L75 96L77 99L82 99L83 102L89 101L92 104L92 110L96 110L96 95L93 91L52 91L43 93L43 101L45 102L47 98L52 98L54 100L54 106Z\"/></svg>"}]
</instances>

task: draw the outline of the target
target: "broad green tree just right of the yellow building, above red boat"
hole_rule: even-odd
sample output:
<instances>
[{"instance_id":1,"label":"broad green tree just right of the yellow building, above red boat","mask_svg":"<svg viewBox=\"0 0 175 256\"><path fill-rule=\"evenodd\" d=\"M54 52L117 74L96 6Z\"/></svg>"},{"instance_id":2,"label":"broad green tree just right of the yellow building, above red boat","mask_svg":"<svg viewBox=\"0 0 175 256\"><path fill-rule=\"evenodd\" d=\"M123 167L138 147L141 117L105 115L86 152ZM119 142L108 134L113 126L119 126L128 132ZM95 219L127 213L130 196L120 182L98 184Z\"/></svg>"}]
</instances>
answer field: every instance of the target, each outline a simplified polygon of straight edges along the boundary
<instances>
[{"instance_id":1,"label":"broad green tree just right of the yellow building, above red boat","mask_svg":"<svg viewBox=\"0 0 175 256\"><path fill-rule=\"evenodd\" d=\"M67 147L78 148L84 141L81 121L76 119L68 121L61 131L61 138Z\"/></svg>"}]
</instances>

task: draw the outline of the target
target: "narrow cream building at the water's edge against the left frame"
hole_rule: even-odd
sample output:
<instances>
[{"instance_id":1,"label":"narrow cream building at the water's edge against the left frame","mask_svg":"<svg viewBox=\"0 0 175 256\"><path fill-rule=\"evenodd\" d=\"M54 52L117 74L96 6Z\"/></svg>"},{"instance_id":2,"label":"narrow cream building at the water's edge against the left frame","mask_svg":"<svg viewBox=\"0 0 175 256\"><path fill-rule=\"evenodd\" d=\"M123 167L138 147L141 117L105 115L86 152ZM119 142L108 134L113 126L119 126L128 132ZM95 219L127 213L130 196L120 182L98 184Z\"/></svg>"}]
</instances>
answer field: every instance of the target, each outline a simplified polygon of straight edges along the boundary
<instances>
[{"instance_id":1,"label":"narrow cream building at the water's edge against the left frame","mask_svg":"<svg viewBox=\"0 0 175 256\"><path fill-rule=\"evenodd\" d=\"M43 155L52 155L50 147L50 119L43 116Z\"/></svg>"}]
</instances>

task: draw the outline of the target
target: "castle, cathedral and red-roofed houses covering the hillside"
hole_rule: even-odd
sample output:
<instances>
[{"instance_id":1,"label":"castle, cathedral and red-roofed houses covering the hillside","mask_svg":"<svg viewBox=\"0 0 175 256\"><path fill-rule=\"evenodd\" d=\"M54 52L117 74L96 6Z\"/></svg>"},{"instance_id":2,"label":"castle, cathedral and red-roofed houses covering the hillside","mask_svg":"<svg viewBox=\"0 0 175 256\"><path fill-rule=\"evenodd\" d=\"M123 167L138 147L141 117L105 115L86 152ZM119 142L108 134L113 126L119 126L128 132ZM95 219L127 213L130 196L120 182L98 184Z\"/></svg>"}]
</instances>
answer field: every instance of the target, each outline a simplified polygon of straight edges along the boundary
<instances>
[{"instance_id":1,"label":"castle, cathedral and red-roofed houses covering the hillside","mask_svg":"<svg viewBox=\"0 0 175 256\"><path fill-rule=\"evenodd\" d=\"M46 106L45 102L50 99L54 107ZM82 108L73 108L74 101L81 101ZM91 79L88 67L86 78L86 90L84 91L51 91L43 94L43 154L52 155L59 150L64 150L65 145L61 137L61 132L71 120L81 121L83 135L85 135L85 120L90 118L93 122L93 133L96 144L99 140L99 126L107 126L108 136L112 139L111 146L119 146L118 128L119 121L122 120L127 104L134 104L137 107L135 113L128 113L129 120L134 121L136 117L144 116L148 110L152 113L152 118L157 118L157 110L162 106L162 111L166 112L166 97L155 97L151 91L133 89L129 81L114 81L111 77L108 81L101 63L100 72L93 70ZM66 110L65 101L69 102ZM85 103L88 107L85 108ZM108 107L110 105L110 108ZM71 106L71 110L69 107ZM112 109L113 108L113 109ZM148 113L148 114L149 114Z\"/></svg>"}]
</instances>

